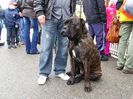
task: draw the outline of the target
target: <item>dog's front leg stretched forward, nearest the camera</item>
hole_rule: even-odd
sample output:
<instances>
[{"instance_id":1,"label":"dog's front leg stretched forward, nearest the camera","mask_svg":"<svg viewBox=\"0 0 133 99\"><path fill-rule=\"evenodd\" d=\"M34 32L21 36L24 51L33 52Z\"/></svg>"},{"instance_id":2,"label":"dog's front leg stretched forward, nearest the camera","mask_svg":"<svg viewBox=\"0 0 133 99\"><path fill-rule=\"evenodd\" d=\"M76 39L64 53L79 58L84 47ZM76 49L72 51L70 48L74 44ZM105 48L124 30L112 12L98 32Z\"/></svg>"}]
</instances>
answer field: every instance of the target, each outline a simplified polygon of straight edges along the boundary
<instances>
[{"instance_id":1,"label":"dog's front leg stretched forward, nearest the camera","mask_svg":"<svg viewBox=\"0 0 133 99\"><path fill-rule=\"evenodd\" d=\"M91 88L91 83L90 83L90 65L88 66L88 61L84 61L84 70L85 70L85 85L84 85L84 90L86 92L90 92L92 90Z\"/></svg>"}]
</instances>

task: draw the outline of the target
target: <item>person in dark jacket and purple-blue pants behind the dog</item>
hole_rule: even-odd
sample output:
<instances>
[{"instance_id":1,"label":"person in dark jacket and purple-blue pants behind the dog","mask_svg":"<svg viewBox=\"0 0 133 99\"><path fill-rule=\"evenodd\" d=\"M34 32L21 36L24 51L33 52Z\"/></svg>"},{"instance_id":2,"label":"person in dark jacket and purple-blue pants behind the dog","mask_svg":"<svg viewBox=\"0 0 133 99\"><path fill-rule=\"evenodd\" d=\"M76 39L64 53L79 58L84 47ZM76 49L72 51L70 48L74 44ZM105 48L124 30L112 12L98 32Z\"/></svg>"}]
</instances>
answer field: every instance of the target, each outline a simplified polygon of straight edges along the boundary
<instances>
[{"instance_id":1,"label":"person in dark jacket and purple-blue pants behind the dog","mask_svg":"<svg viewBox=\"0 0 133 99\"><path fill-rule=\"evenodd\" d=\"M89 33L94 39L102 61L108 58L104 55L106 10L104 0L83 0L83 10L89 25Z\"/></svg>"}]
</instances>

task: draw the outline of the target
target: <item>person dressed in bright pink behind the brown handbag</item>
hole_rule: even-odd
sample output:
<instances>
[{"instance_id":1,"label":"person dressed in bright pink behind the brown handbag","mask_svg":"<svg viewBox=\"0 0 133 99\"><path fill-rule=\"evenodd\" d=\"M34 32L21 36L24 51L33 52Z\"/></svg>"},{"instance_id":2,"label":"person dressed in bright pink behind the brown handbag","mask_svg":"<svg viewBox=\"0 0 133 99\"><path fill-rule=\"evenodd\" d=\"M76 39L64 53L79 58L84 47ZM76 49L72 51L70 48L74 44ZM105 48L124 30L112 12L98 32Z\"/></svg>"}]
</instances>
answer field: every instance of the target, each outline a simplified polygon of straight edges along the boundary
<instances>
[{"instance_id":1,"label":"person dressed in bright pink behind the brown handbag","mask_svg":"<svg viewBox=\"0 0 133 99\"><path fill-rule=\"evenodd\" d=\"M109 1L106 5L106 17L107 17L107 22L106 22L106 30L105 30L105 35L107 35L109 31L109 27L111 25L111 22L113 21L114 17L116 16L116 4ZM108 41L105 42L105 48L104 48L104 54L109 57L110 56L110 43Z\"/></svg>"}]
</instances>

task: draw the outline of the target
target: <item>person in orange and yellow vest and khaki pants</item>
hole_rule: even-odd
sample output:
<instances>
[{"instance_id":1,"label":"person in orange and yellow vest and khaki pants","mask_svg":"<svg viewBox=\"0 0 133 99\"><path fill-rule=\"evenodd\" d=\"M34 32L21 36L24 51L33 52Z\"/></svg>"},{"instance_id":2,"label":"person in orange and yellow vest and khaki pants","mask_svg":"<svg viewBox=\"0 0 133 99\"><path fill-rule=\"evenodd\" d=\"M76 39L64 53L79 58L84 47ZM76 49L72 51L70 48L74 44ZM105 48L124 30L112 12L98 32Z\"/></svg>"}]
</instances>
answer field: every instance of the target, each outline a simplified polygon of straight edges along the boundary
<instances>
[{"instance_id":1,"label":"person in orange and yellow vest and khaki pants","mask_svg":"<svg viewBox=\"0 0 133 99\"><path fill-rule=\"evenodd\" d=\"M124 12L124 3L125 0L118 0L116 5L119 12L119 20L121 22L116 68L122 70L125 74L133 74L133 16Z\"/></svg>"}]
</instances>

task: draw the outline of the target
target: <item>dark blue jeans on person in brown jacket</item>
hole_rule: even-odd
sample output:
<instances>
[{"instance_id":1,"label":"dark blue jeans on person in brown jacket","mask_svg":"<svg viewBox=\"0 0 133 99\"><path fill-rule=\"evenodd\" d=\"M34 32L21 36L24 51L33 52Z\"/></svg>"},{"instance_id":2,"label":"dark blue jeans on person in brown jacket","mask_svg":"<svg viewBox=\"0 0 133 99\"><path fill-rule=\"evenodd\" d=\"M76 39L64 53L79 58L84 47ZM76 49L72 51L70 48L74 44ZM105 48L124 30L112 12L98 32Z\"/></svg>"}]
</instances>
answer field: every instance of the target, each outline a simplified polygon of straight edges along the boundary
<instances>
[{"instance_id":1,"label":"dark blue jeans on person in brown jacket","mask_svg":"<svg viewBox=\"0 0 133 99\"><path fill-rule=\"evenodd\" d=\"M30 41L30 27L33 27L32 40ZM24 17L24 29L25 29L25 46L27 53L37 52L37 40L38 40L38 21L37 19L30 19L29 17Z\"/></svg>"}]
</instances>

